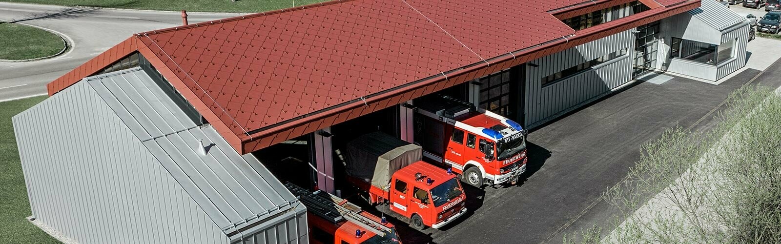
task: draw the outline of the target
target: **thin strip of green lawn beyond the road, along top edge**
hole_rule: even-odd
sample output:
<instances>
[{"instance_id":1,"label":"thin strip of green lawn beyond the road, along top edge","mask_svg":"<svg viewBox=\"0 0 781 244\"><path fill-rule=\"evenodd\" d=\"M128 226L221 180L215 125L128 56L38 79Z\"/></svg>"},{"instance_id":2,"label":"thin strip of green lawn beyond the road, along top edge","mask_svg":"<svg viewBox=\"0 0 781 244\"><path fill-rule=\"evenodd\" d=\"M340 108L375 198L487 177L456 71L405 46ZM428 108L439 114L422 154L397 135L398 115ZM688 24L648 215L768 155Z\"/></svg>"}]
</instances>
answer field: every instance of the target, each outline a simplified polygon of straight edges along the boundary
<instances>
[{"instance_id":1,"label":"thin strip of green lawn beyond the road, along top edge","mask_svg":"<svg viewBox=\"0 0 781 244\"><path fill-rule=\"evenodd\" d=\"M119 9L152 9L196 12L256 13L293 6L307 5L325 0L0 0L66 6L90 6Z\"/></svg>"}]
</instances>

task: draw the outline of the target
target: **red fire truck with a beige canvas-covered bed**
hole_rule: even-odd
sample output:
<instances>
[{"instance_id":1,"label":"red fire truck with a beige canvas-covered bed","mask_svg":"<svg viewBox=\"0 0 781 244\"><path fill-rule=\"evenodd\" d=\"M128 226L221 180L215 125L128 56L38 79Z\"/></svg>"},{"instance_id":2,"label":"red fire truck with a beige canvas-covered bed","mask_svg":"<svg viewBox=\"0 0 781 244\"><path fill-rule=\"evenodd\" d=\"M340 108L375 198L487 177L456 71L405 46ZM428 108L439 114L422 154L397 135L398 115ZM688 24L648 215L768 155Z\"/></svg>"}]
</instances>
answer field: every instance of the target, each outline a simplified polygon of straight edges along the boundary
<instances>
[{"instance_id":1,"label":"red fire truck with a beige canvas-covered bed","mask_svg":"<svg viewBox=\"0 0 781 244\"><path fill-rule=\"evenodd\" d=\"M389 203L412 228L440 228L466 213L463 188L450 171L421 161L423 149L382 132L348 142L348 181L369 203Z\"/></svg>"}]
</instances>

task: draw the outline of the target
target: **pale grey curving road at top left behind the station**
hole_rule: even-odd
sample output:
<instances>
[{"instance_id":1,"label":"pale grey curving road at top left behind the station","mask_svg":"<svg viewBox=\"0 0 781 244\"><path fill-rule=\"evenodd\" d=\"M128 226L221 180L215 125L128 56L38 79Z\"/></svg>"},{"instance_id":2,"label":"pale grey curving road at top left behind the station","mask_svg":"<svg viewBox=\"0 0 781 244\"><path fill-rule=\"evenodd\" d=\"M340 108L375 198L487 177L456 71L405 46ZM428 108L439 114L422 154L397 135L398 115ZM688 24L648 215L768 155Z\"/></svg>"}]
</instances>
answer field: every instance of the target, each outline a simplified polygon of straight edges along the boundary
<instances>
[{"instance_id":1,"label":"pale grey curving road at top left behind the station","mask_svg":"<svg viewBox=\"0 0 781 244\"><path fill-rule=\"evenodd\" d=\"M190 23L235 13L188 13ZM46 84L134 33L175 27L180 13L62 7L0 2L0 20L55 30L72 42L65 55L27 63L0 63L0 101L46 93Z\"/></svg>"}]
</instances>

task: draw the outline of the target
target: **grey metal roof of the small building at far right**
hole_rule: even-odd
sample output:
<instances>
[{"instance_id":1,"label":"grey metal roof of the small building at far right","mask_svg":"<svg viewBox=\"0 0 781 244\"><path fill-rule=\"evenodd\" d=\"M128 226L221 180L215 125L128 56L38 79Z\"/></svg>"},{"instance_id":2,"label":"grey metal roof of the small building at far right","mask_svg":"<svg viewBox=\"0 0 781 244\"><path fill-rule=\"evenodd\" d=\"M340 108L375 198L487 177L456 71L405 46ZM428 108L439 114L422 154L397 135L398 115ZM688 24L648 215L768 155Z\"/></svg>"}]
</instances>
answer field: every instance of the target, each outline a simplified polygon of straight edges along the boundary
<instances>
[{"instance_id":1,"label":"grey metal roof of the small building at far right","mask_svg":"<svg viewBox=\"0 0 781 244\"><path fill-rule=\"evenodd\" d=\"M701 20L703 23L716 30L726 30L733 25L743 22L745 19L732 9L727 8L715 0L705 0L701 2L701 5L697 9L689 10L690 15Z\"/></svg>"}]
</instances>

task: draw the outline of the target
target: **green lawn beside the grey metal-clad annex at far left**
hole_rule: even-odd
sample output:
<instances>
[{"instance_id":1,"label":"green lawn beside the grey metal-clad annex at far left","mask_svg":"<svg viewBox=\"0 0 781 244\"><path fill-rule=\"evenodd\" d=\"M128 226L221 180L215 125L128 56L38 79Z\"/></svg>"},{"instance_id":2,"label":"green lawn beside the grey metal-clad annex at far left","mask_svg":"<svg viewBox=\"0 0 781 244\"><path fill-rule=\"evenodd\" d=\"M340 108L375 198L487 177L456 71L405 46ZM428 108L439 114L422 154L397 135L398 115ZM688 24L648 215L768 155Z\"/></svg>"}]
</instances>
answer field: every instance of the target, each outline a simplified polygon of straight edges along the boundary
<instances>
[{"instance_id":1,"label":"green lawn beside the grey metal-clad annex at far left","mask_svg":"<svg viewBox=\"0 0 781 244\"><path fill-rule=\"evenodd\" d=\"M46 99L39 96L0 102L0 242L59 243L25 219L30 216L27 187L16 149L11 117Z\"/></svg>"}]
</instances>

